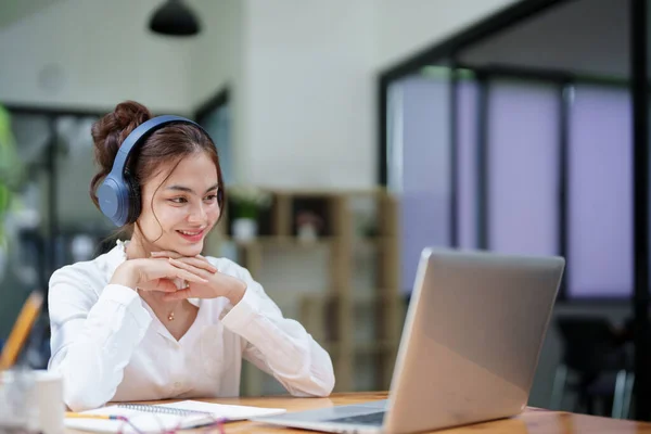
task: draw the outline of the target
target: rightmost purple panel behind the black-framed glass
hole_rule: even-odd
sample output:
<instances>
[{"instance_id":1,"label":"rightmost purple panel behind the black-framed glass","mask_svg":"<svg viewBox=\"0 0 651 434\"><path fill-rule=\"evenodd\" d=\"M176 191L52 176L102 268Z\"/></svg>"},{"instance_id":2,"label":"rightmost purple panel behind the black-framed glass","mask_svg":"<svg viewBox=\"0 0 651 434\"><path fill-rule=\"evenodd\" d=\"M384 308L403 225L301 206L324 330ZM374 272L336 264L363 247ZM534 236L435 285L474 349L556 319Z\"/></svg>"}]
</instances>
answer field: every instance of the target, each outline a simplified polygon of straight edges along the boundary
<instances>
[{"instance_id":1,"label":"rightmost purple panel behind the black-framed glass","mask_svg":"<svg viewBox=\"0 0 651 434\"><path fill-rule=\"evenodd\" d=\"M630 95L576 88L571 110L569 295L633 291Z\"/></svg>"}]
</instances>

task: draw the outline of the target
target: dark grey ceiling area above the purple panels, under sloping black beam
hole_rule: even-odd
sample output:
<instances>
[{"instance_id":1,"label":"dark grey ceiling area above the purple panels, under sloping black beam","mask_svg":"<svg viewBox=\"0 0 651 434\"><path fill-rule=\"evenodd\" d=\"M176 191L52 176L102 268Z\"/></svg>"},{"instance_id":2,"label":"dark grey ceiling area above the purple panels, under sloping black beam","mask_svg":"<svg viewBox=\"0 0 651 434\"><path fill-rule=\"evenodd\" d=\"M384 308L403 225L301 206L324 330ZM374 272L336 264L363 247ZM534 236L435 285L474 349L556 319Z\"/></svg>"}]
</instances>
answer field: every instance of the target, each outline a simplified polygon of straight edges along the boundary
<instances>
[{"instance_id":1,"label":"dark grey ceiling area above the purple panels, under sloping black beam","mask_svg":"<svg viewBox=\"0 0 651 434\"><path fill-rule=\"evenodd\" d=\"M573 0L509 27L459 56L473 66L508 65L627 78L626 0Z\"/></svg>"}]
</instances>

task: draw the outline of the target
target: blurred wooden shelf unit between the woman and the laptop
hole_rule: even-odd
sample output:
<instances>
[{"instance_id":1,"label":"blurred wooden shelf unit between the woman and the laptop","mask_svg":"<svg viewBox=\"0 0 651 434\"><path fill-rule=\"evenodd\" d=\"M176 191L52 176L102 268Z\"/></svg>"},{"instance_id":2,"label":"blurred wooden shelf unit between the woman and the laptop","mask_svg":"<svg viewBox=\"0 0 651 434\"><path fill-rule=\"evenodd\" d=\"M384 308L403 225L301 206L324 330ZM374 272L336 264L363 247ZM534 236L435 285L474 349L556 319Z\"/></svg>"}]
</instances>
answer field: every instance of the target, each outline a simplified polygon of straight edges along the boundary
<instances>
[{"instance_id":1,"label":"blurred wooden shelf unit between the woman and the laptop","mask_svg":"<svg viewBox=\"0 0 651 434\"><path fill-rule=\"evenodd\" d=\"M384 190L266 191L272 201L258 219L258 237L233 240L227 206L207 253L246 267L283 315L298 320L329 352L336 392L387 390L405 315L395 197ZM296 234L302 210L323 220L316 240ZM243 365L243 396L282 391L273 379Z\"/></svg>"}]
</instances>

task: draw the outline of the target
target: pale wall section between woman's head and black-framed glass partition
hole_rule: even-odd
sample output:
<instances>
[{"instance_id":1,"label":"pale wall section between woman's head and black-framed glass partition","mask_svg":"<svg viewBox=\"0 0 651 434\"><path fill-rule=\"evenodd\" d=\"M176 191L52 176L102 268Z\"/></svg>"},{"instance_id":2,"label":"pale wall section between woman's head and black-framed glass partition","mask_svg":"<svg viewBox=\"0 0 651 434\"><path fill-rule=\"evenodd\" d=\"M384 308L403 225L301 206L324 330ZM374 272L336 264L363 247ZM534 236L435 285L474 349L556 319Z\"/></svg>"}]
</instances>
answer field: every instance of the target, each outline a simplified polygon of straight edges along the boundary
<instances>
[{"instance_id":1,"label":"pale wall section between woman's head and black-framed glass partition","mask_svg":"<svg viewBox=\"0 0 651 434\"><path fill-rule=\"evenodd\" d=\"M275 187L374 181L372 0L251 0L246 177Z\"/></svg>"}]
</instances>

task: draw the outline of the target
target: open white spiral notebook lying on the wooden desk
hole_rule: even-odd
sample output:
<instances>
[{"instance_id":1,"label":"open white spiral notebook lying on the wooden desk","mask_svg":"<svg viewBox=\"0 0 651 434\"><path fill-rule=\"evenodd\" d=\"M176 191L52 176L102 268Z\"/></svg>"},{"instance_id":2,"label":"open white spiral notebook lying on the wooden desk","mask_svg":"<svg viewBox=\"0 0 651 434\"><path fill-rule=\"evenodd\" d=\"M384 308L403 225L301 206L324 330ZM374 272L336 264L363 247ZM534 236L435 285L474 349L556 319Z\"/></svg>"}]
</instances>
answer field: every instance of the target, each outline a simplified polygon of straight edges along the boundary
<instances>
[{"instance_id":1,"label":"open white spiral notebook lying on the wooden desk","mask_svg":"<svg viewBox=\"0 0 651 434\"><path fill-rule=\"evenodd\" d=\"M142 405L118 404L81 414L124 416L142 433L159 433L173 429L191 429L215 423L216 420L237 421L263 416L282 414L283 408L229 406L183 400L180 403ZM137 433L133 426L119 420L66 418L65 426L102 433Z\"/></svg>"}]
</instances>

